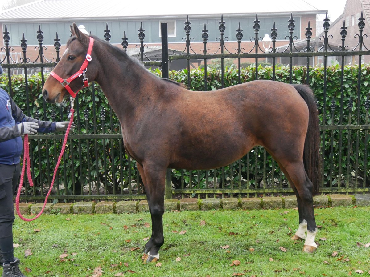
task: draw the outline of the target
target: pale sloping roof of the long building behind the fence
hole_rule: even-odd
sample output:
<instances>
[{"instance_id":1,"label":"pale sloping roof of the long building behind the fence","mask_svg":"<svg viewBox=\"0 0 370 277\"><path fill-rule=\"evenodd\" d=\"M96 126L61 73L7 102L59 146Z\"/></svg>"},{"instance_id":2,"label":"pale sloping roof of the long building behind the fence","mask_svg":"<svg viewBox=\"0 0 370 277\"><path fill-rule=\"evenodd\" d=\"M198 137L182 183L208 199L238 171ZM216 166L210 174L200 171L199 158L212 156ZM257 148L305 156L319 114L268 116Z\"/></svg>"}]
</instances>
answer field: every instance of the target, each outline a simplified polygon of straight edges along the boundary
<instances>
[{"instance_id":1,"label":"pale sloping roof of the long building behind the fence","mask_svg":"<svg viewBox=\"0 0 370 277\"><path fill-rule=\"evenodd\" d=\"M195 6L184 1L172 1L168 5L159 5L153 1L122 0L38 0L22 6L10 8L0 13L0 21L71 21L111 20L117 18L142 19L176 16L206 16L212 15L252 15L252 14L320 14L326 10L318 10L304 0L280 1L264 0L263 5L243 3L225 4L223 0L213 0L212 5Z\"/></svg>"}]
</instances>

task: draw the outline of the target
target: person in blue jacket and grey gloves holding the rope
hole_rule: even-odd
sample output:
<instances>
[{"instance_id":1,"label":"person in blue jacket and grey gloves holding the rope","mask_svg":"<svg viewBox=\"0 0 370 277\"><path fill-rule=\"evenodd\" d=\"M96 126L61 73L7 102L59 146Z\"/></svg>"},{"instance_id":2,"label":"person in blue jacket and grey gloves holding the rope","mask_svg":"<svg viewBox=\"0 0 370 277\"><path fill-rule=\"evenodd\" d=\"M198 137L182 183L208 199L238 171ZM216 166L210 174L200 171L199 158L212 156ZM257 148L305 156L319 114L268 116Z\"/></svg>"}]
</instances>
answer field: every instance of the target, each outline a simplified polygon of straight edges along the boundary
<instances>
[{"instance_id":1,"label":"person in blue jacket and grey gloves holding the rope","mask_svg":"<svg viewBox=\"0 0 370 277\"><path fill-rule=\"evenodd\" d=\"M0 75L3 70L0 65ZM19 185L20 155L24 134L66 131L68 122L36 120L26 116L9 94L0 88L0 264L2 277L26 277L13 250L13 195ZM71 126L71 130L74 126Z\"/></svg>"}]
</instances>

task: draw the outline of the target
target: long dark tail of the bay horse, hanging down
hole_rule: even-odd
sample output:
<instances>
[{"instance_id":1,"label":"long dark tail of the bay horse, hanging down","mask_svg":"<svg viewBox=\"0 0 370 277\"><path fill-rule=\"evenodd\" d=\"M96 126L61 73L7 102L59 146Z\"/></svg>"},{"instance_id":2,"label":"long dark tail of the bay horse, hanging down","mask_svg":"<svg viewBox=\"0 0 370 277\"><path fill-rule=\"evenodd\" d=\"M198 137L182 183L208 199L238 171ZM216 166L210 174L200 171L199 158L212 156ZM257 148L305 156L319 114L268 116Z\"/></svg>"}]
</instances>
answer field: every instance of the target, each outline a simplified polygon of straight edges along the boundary
<instances>
[{"instance_id":1,"label":"long dark tail of the bay horse, hanging down","mask_svg":"<svg viewBox=\"0 0 370 277\"><path fill-rule=\"evenodd\" d=\"M306 133L305 147L303 150L303 164L310 178L313 188L312 194L319 193L321 182L321 156L320 149L320 130L317 118L316 99L312 89L307 85L293 85L299 95L305 100L309 109L308 129Z\"/></svg>"}]
</instances>

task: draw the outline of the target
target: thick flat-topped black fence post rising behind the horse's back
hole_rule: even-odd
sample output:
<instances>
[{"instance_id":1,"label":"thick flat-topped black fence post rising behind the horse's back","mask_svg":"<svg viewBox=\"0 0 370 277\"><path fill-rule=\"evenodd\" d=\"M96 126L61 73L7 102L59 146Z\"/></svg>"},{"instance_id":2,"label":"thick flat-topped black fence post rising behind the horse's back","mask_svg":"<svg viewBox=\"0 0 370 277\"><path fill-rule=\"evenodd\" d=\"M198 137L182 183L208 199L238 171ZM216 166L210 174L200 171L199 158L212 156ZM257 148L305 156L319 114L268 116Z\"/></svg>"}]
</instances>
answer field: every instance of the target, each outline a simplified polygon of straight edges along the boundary
<instances>
[{"instance_id":1,"label":"thick flat-topped black fence post rising behind the horse's back","mask_svg":"<svg viewBox=\"0 0 370 277\"><path fill-rule=\"evenodd\" d=\"M168 39L167 23L161 23L162 36L162 78L168 79ZM165 199L172 199L171 169L166 171L166 194Z\"/></svg>"}]
</instances>

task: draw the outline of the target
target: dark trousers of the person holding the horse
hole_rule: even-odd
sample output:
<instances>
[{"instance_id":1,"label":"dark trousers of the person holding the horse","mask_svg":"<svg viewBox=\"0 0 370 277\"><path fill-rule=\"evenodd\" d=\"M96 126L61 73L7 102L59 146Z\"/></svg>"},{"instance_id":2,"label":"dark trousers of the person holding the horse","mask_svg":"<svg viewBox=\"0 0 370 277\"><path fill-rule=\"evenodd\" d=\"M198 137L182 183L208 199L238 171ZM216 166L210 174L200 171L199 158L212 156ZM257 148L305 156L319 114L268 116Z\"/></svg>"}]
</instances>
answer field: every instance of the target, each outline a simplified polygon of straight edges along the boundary
<instances>
[{"instance_id":1,"label":"dark trousers of the person holding the horse","mask_svg":"<svg viewBox=\"0 0 370 277\"><path fill-rule=\"evenodd\" d=\"M20 164L0 164L0 249L4 261L13 259L13 194L18 188ZM13 257L13 258L11 258Z\"/></svg>"}]
</instances>

